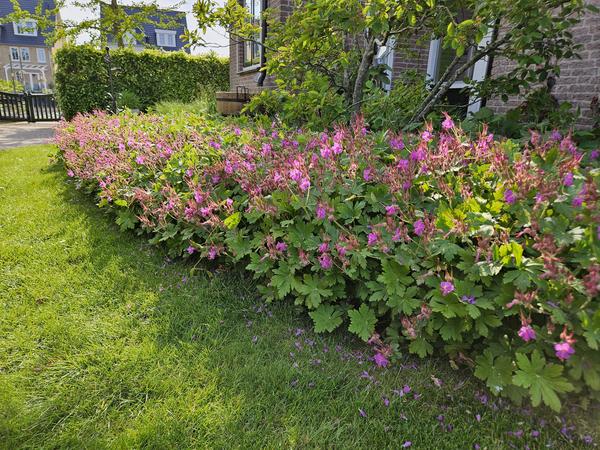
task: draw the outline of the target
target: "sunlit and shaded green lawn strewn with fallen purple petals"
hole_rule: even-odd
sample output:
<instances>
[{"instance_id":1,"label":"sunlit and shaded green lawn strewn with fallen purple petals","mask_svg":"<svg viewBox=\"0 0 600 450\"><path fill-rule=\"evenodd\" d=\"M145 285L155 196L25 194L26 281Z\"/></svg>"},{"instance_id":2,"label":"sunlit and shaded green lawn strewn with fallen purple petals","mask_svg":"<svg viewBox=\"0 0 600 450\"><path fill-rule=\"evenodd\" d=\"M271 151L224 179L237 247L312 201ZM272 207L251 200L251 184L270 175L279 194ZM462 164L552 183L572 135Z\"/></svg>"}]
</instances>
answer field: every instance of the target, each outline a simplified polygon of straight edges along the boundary
<instances>
[{"instance_id":1,"label":"sunlit and shaded green lawn strewn with fallen purple petals","mask_svg":"<svg viewBox=\"0 0 600 450\"><path fill-rule=\"evenodd\" d=\"M570 441L444 360L376 370L346 333L297 336L243 275L121 233L50 150L0 152L0 448L581 448L594 427Z\"/></svg>"}]
</instances>

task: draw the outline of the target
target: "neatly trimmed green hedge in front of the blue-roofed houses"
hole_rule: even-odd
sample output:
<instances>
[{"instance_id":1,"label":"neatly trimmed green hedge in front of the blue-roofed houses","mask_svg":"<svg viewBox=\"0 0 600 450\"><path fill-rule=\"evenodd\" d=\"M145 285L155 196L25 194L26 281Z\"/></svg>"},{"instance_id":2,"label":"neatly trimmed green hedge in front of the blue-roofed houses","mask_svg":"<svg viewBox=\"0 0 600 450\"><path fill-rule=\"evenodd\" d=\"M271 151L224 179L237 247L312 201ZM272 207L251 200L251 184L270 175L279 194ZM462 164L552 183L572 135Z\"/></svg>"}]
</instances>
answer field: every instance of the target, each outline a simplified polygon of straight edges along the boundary
<instances>
[{"instance_id":1,"label":"neatly trimmed green hedge in front of the blue-roofed houses","mask_svg":"<svg viewBox=\"0 0 600 450\"><path fill-rule=\"evenodd\" d=\"M67 46L55 58L56 91L65 118L108 106L109 81L102 51ZM190 102L207 91L225 90L229 84L229 60L213 54L119 49L111 51L111 65L115 92L134 93L144 110L164 100Z\"/></svg>"}]
</instances>

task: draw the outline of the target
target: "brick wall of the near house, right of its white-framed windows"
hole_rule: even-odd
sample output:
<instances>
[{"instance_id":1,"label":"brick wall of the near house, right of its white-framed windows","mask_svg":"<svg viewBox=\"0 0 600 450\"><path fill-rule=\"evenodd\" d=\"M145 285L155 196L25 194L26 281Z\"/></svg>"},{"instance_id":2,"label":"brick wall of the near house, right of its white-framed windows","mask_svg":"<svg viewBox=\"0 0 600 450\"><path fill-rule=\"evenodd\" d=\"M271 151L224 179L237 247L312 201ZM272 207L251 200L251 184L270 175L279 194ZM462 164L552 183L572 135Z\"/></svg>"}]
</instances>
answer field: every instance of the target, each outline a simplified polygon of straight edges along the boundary
<instances>
[{"instance_id":1,"label":"brick wall of the near house, right of its white-framed windows","mask_svg":"<svg viewBox=\"0 0 600 450\"><path fill-rule=\"evenodd\" d=\"M600 0L589 0L589 3L600 7ZM600 96L600 14L588 13L584 19L573 27L573 35L582 44L579 54L581 59L570 59L561 62L560 76L557 78L553 94L559 101L567 101L574 108L579 107L581 118L578 126L590 128L593 124L590 103L594 96ZM514 67L510 61L496 60L492 67L492 76L507 73ZM523 101L522 97L510 97L504 103L500 98L492 98L486 106L496 112L506 112Z\"/></svg>"}]
</instances>

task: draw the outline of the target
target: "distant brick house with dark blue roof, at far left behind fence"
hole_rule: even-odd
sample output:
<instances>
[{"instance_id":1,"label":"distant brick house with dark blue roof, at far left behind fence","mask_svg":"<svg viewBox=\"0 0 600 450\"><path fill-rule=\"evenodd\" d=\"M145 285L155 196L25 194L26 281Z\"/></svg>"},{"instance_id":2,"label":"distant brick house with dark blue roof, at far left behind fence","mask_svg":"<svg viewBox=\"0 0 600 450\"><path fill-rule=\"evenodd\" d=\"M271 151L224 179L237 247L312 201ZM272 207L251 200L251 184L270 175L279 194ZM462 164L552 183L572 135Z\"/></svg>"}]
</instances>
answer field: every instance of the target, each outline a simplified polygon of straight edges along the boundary
<instances>
[{"instance_id":1,"label":"distant brick house with dark blue roof, at far left behind fence","mask_svg":"<svg viewBox=\"0 0 600 450\"><path fill-rule=\"evenodd\" d=\"M38 0L19 0L19 5L33 13ZM51 10L54 6L54 0L44 0L42 3L46 10ZM13 12L10 1L0 0L0 17ZM52 48L46 43L42 31L38 29L36 21L31 19L0 24L0 79L14 79L30 92L52 89Z\"/></svg>"}]
</instances>

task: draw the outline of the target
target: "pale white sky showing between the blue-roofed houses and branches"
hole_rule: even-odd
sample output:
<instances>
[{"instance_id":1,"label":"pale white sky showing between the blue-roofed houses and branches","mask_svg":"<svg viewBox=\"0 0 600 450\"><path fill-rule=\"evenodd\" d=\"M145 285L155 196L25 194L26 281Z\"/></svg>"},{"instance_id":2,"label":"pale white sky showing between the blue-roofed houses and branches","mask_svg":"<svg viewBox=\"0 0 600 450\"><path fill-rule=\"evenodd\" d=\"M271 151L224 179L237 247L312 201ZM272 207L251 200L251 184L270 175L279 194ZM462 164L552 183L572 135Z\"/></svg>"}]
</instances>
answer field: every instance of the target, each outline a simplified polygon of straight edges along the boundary
<instances>
[{"instance_id":1,"label":"pale white sky showing between the blue-roofed houses and branches","mask_svg":"<svg viewBox=\"0 0 600 450\"><path fill-rule=\"evenodd\" d=\"M3 1L3 0L0 0L0 1ZM224 3L224 1L225 0L217 0L217 3L222 4L222 3ZM80 21L80 20L90 17L91 13L89 11L84 11L80 8L76 8L76 7L72 6L70 3L71 2L68 1L68 3L67 3L68 6L61 9L60 14L63 19ZM123 1L122 3L127 4L128 2ZM179 1L177 1L177 0L158 0L158 3L160 6L172 7L174 5L177 5L179 3ZM194 4L194 0L185 0L183 5L181 5L179 8L177 8L179 11L184 11L187 13L187 23L188 23L188 28L190 30L194 30L194 29L198 28L198 22L196 21L194 15L191 13L193 4ZM202 48L194 48L194 49L192 49L192 53L200 54L200 53L206 53L206 52L213 50L216 53L218 53L219 55L229 56L228 38L227 38L227 34L225 33L225 30L223 28L208 30L206 35L204 36L204 39L210 46L202 47Z\"/></svg>"}]
</instances>

